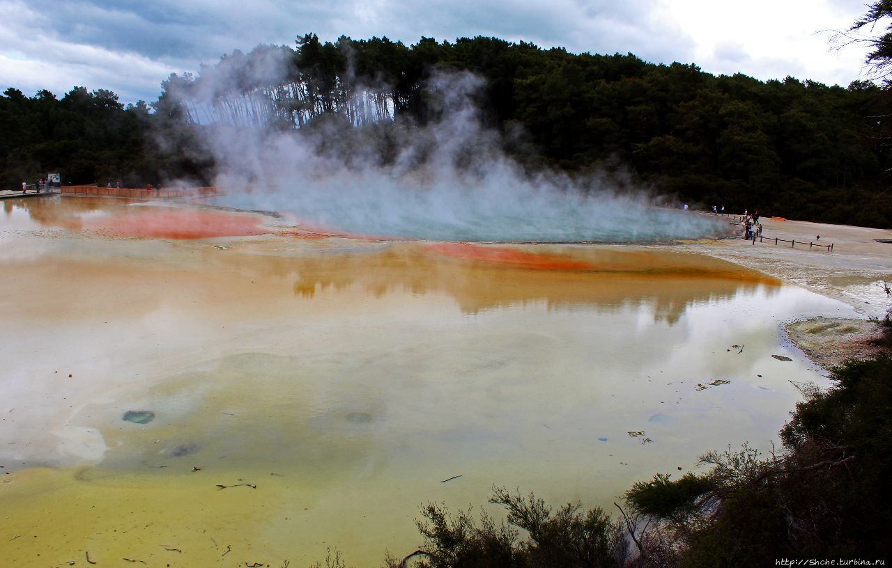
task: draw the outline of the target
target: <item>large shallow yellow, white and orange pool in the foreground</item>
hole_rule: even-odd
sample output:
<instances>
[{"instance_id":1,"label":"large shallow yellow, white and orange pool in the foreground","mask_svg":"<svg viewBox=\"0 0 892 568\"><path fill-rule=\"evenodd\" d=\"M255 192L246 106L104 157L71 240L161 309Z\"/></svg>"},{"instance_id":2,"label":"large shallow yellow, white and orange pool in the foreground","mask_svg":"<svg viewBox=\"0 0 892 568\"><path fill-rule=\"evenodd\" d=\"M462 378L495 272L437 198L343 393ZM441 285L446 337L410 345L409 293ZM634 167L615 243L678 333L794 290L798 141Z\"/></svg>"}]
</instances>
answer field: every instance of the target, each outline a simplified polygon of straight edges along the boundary
<instances>
[{"instance_id":1,"label":"large shallow yellow, white and orange pool in the foreground","mask_svg":"<svg viewBox=\"0 0 892 568\"><path fill-rule=\"evenodd\" d=\"M300 566L336 548L377 566L420 544L420 505L479 506L493 484L612 507L706 450L770 448L792 383L826 384L780 324L852 315L671 247L320 238L127 199L3 207L10 565Z\"/></svg>"}]
</instances>

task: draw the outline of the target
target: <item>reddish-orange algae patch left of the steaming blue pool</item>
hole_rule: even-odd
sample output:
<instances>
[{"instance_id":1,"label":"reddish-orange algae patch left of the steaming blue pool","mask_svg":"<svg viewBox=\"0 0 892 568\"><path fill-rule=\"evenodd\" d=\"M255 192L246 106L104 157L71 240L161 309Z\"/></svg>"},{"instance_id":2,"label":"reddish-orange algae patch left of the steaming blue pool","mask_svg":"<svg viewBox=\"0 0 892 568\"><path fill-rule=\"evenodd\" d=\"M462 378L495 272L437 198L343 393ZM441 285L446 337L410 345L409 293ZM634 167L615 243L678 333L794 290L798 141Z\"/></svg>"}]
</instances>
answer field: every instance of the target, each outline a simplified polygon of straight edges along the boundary
<instances>
[{"instance_id":1,"label":"reddish-orange algae patch left of the steaming blue pool","mask_svg":"<svg viewBox=\"0 0 892 568\"><path fill-rule=\"evenodd\" d=\"M206 211L146 211L91 219L86 229L122 237L155 239L210 239L267 234L260 220L248 215L209 213Z\"/></svg>"}]
</instances>

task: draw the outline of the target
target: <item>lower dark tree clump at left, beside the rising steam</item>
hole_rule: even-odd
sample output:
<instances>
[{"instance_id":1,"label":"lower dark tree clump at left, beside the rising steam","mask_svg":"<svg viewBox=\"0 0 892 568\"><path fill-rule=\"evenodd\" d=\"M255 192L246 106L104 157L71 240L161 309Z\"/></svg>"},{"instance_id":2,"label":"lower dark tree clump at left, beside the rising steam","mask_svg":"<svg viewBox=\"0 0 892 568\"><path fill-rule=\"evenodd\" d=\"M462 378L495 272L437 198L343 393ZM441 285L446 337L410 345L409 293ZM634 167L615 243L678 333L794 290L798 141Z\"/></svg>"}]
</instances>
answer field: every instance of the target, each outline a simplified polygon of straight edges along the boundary
<instances>
[{"instance_id":1,"label":"lower dark tree clump at left, beside the rising steam","mask_svg":"<svg viewBox=\"0 0 892 568\"><path fill-rule=\"evenodd\" d=\"M213 160L198 133L173 126L145 101L125 105L106 89L75 86L59 99L9 87L0 97L0 189L50 172L61 173L62 183L207 183Z\"/></svg>"}]
</instances>

